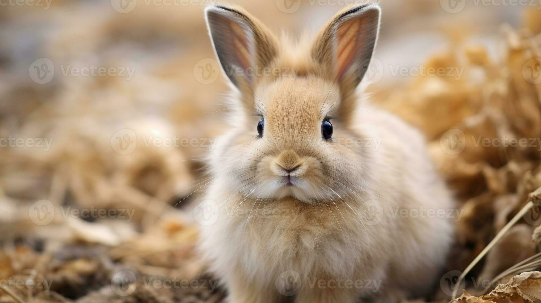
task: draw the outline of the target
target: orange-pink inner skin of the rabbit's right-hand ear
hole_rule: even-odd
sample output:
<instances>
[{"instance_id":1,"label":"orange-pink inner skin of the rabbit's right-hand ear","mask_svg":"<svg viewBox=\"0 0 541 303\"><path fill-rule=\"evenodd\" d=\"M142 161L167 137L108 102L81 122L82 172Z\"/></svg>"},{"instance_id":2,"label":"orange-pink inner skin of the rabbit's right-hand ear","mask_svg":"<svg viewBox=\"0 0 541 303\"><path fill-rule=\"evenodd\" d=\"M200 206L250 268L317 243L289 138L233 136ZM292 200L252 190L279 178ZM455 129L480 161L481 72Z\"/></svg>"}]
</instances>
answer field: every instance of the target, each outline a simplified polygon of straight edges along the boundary
<instances>
[{"instance_id":1,"label":"orange-pink inner skin of the rabbit's right-hand ear","mask_svg":"<svg viewBox=\"0 0 541 303\"><path fill-rule=\"evenodd\" d=\"M352 19L339 25L337 32L337 63L338 79L341 80L349 67L353 64L355 57L359 54L359 28L361 21Z\"/></svg>"}]
</instances>

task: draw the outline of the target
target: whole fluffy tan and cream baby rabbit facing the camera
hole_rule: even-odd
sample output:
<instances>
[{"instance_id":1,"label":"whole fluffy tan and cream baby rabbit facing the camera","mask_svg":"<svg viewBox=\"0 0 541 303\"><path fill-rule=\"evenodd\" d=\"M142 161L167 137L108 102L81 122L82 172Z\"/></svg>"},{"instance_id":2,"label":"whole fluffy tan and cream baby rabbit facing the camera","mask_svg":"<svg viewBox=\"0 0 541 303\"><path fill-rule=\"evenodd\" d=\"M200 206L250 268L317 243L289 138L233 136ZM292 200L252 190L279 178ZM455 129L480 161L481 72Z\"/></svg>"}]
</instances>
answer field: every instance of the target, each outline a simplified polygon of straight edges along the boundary
<instances>
[{"instance_id":1,"label":"whole fluffy tan and cream baby rabbit facing the camera","mask_svg":"<svg viewBox=\"0 0 541 303\"><path fill-rule=\"evenodd\" d=\"M206 19L233 113L194 215L229 302L393 302L431 289L453 222L430 214L452 210L451 194L419 131L355 91L378 4L339 12L312 42L279 43L236 7Z\"/></svg>"}]
</instances>

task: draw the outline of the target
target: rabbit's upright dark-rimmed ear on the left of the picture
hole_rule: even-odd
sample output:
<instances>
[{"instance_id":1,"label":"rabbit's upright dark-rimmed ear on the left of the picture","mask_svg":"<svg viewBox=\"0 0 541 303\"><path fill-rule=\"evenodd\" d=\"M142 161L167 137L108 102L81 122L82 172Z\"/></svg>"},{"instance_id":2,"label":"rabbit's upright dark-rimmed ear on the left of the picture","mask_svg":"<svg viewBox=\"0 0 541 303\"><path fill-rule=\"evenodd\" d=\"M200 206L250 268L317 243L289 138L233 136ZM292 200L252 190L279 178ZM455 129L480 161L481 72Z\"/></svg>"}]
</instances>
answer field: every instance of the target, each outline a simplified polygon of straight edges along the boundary
<instances>
[{"instance_id":1,"label":"rabbit's upright dark-rimmed ear on the left of the picture","mask_svg":"<svg viewBox=\"0 0 541 303\"><path fill-rule=\"evenodd\" d=\"M223 71L239 90L253 89L256 71L268 67L276 57L276 38L240 8L210 6L205 15Z\"/></svg>"}]
</instances>

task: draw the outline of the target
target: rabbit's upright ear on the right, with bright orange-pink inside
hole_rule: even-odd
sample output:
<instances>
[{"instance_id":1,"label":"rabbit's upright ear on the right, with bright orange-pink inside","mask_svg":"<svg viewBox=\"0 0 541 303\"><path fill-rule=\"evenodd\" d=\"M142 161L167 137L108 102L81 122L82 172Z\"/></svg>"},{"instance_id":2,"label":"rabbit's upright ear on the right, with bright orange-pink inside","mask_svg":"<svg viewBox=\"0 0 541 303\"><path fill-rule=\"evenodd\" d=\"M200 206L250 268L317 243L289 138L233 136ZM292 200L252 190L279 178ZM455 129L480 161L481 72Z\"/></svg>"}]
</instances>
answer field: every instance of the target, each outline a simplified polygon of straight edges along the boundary
<instances>
[{"instance_id":1,"label":"rabbit's upright ear on the right, with bright orange-pink inside","mask_svg":"<svg viewBox=\"0 0 541 303\"><path fill-rule=\"evenodd\" d=\"M380 15L377 4L348 8L316 37L312 57L342 89L354 90L364 77L378 39Z\"/></svg>"}]
</instances>

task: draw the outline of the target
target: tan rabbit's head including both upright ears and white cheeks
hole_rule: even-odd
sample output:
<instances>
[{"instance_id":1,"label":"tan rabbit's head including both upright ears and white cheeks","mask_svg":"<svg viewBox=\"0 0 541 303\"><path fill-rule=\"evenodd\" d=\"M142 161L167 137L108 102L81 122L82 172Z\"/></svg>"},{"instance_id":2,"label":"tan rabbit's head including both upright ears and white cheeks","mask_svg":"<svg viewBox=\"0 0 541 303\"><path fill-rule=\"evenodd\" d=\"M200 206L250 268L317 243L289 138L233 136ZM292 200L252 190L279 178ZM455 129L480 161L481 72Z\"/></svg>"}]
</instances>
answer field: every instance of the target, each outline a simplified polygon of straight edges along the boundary
<instances>
[{"instance_id":1,"label":"tan rabbit's head including both upright ears and white cheeks","mask_svg":"<svg viewBox=\"0 0 541 303\"><path fill-rule=\"evenodd\" d=\"M354 194L369 173L352 128L355 88L377 41L379 6L341 11L312 42L294 45L280 44L239 8L213 6L206 17L234 91L233 129L211 159L223 186L260 199L304 202Z\"/></svg>"}]
</instances>

